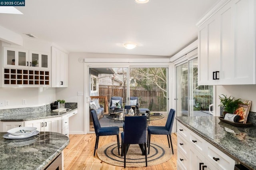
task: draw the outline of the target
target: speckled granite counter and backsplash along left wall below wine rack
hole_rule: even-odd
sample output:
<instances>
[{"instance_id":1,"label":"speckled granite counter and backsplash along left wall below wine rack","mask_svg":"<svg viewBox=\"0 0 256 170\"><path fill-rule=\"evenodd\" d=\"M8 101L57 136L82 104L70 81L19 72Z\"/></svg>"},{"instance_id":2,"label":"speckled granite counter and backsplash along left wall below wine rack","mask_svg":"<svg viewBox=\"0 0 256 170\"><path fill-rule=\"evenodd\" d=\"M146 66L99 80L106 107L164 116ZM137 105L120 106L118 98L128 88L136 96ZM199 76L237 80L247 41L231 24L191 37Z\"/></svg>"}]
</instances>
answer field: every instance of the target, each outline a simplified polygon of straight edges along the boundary
<instances>
[{"instance_id":1,"label":"speckled granite counter and backsplash along left wall below wine rack","mask_svg":"<svg viewBox=\"0 0 256 170\"><path fill-rule=\"evenodd\" d=\"M77 103L65 103L65 108L71 110L68 112L53 112L51 111L50 105L17 109L3 109L0 110L0 121L30 121L35 119L59 117L77 110Z\"/></svg>"}]
</instances>

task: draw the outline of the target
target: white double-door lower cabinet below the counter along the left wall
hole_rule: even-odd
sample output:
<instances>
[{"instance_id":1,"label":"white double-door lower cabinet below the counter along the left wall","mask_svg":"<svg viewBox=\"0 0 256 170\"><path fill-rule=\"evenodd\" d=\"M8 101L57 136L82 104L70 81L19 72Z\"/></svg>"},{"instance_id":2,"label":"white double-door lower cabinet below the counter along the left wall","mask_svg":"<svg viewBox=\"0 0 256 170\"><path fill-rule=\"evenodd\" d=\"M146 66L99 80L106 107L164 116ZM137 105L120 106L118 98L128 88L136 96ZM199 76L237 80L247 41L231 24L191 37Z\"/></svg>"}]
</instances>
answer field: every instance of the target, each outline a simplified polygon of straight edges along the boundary
<instances>
[{"instance_id":1,"label":"white double-door lower cabinet below the counter along the left wall","mask_svg":"<svg viewBox=\"0 0 256 170\"><path fill-rule=\"evenodd\" d=\"M36 127L40 132L61 132L61 117L25 121L25 127Z\"/></svg>"}]
</instances>

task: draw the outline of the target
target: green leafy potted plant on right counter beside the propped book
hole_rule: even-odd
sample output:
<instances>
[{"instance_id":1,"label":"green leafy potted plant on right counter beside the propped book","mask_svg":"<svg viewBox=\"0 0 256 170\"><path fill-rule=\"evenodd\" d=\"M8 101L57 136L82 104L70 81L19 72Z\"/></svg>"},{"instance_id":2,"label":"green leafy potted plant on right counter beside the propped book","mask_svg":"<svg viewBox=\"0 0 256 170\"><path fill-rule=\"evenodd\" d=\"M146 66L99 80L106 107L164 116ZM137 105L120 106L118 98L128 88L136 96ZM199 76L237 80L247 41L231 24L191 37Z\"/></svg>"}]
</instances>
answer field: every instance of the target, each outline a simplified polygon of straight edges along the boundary
<instances>
[{"instance_id":1,"label":"green leafy potted plant on right counter beside the propped book","mask_svg":"<svg viewBox=\"0 0 256 170\"><path fill-rule=\"evenodd\" d=\"M227 97L226 95L220 95L220 105L221 107L224 107L223 115L226 113L234 113L236 109L238 108L238 104L241 104L241 99L234 100L234 97Z\"/></svg>"}]
</instances>

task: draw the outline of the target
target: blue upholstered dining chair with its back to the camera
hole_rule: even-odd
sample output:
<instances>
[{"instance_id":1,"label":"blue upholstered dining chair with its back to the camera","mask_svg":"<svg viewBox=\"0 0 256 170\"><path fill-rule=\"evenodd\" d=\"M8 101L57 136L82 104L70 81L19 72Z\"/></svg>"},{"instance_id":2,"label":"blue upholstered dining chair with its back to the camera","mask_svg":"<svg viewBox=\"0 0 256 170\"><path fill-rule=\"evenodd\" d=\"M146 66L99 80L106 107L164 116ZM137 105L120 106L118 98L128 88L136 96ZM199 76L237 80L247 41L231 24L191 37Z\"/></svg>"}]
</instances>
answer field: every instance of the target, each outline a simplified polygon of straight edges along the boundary
<instances>
[{"instance_id":1,"label":"blue upholstered dining chair with its back to the camera","mask_svg":"<svg viewBox=\"0 0 256 170\"><path fill-rule=\"evenodd\" d=\"M124 168L126 167L126 154L130 144L139 144L145 154L146 166L147 160L147 117L146 116L127 116L124 119L124 132L121 133L122 138L122 154L124 154ZM142 149L143 150L143 149Z\"/></svg>"}]
</instances>

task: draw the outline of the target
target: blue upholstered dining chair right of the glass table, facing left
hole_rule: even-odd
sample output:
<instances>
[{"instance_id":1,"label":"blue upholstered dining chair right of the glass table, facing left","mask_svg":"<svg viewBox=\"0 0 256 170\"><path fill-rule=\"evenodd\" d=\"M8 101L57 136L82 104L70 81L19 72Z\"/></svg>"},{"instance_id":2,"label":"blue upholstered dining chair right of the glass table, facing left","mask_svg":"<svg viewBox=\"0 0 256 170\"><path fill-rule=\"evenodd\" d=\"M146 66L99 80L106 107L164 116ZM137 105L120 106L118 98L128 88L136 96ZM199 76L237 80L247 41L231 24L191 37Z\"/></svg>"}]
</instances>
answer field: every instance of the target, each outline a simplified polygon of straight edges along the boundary
<instances>
[{"instance_id":1,"label":"blue upholstered dining chair right of the glass table, facing left","mask_svg":"<svg viewBox=\"0 0 256 170\"><path fill-rule=\"evenodd\" d=\"M174 123L174 117L175 117L175 110L170 109L170 112L169 112L169 115L168 115L168 118L167 118L167 121L166 121L166 124L164 127L162 127L162 126L149 126L148 127L148 154L150 152L151 134L166 134L167 139L168 139L169 148L170 148L170 142L171 142L171 146L172 146L171 133L172 133L172 126ZM169 141L169 138L170 138L170 141ZM173 147L172 147L172 154L174 154Z\"/></svg>"}]
</instances>

